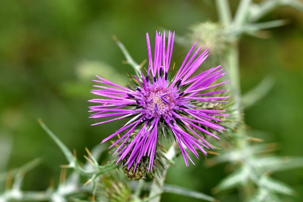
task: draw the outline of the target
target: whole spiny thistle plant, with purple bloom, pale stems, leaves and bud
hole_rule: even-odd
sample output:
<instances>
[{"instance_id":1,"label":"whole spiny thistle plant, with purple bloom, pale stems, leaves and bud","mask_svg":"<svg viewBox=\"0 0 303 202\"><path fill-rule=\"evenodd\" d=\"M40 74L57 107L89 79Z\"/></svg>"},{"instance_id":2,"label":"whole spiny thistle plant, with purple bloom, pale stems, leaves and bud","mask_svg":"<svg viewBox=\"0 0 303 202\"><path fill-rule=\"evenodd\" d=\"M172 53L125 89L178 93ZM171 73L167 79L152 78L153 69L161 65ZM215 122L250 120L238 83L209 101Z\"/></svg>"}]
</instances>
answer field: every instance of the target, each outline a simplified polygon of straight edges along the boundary
<instances>
[{"instance_id":1,"label":"whole spiny thistle plant, with purple bloom, pale stems, leaves and bud","mask_svg":"<svg viewBox=\"0 0 303 202\"><path fill-rule=\"evenodd\" d=\"M188 166L196 161L190 155L199 158L209 153L217 156L207 157L208 165L228 163L232 170L214 187L214 194L237 188L240 201L282 201L281 194L293 197L295 191L271 174L303 167L303 158L275 156L272 144L261 143L247 129L244 108L265 96L273 81L265 78L241 95L238 42L243 34L259 37L263 29L283 26L284 20L258 22L276 7L291 6L303 11L303 4L295 0L241 0L234 15L227 0L216 0L216 6L219 22L194 24L185 36L156 32L153 46L146 34L146 66L136 63L115 37L134 72L125 85L96 76L91 90L96 98L89 100L94 104L89 113L97 120L92 125L117 120L123 125L112 134L107 131L102 144L85 148L86 162L81 163L76 152L39 120L68 162L62 166L60 182L45 191L22 190L24 175L40 163L34 160L0 174L0 182L6 179L0 201L159 202L164 192L218 201L217 195L215 198L165 181L179 156ZM181 64L173 62L175 38L185 47L191 45ZM216 64L205 67L209 53L216 59L211 63ZM110 151L105 146L107 141L112 143ZM112 156L100 162L102 153ZM68 175L67 169L71 170Z\"/></svg>"}]
</instances>

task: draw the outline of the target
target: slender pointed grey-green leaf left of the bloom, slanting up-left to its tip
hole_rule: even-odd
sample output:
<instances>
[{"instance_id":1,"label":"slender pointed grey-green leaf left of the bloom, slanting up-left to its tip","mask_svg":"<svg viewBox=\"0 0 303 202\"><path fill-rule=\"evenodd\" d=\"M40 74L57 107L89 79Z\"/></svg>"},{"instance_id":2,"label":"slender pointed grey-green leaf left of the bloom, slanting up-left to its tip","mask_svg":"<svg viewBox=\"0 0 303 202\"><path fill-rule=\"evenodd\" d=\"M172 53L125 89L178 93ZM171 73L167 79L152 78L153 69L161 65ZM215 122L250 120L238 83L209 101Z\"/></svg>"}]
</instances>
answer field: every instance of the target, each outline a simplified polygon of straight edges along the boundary
<instances>
[{"instance_id":1,"label":"slender pointed grey-green leaf left of the bloom, slanting up-left to its tip","mask_svg":"<svg viewBox=\"0 0 303 202\"><path fill-rule=\"evenodd\" d=\"M69 162L70 167L75 166L75 158L69 148L42 122L41 119L38 119L39 124L45 130L45 132L57 143L57 145L62 150L65 155L67 161Z\"/></svg>"}]
</instances>

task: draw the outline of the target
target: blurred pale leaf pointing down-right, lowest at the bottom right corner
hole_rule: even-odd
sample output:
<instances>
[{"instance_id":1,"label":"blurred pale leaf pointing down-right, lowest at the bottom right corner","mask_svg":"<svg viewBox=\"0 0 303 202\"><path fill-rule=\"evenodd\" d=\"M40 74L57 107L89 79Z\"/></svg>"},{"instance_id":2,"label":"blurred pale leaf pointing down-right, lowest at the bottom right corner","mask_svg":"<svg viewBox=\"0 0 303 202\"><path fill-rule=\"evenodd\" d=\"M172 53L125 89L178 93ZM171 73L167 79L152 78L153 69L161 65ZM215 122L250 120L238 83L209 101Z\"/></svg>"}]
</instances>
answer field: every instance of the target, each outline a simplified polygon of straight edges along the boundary
<instances>
[{"instance_id":1,"label":"blurred pale leaf pointing down-right, lowest at the bottom right corner","mask_svg":"<svg viewBox=\"0 0 303 202\"><path fill-rule=\"evenodd\" d=\"M260 178L259 186L285 195L293 195L295 193L294 190L287 184L278 180L274 180L267 176L263 176Z\"/></svg>"}]
</instances>

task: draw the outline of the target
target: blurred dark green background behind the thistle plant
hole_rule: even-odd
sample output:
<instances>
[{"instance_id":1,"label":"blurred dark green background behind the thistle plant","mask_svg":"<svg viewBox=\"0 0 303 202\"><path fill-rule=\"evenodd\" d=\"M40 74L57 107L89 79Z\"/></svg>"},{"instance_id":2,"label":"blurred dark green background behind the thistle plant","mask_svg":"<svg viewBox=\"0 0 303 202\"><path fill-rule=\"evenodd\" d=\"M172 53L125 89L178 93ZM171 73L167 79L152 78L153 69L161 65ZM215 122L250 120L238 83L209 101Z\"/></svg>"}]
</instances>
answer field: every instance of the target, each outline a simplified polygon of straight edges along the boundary
<instances>
[{"instance_id":1,"label":"blurred dark green background behind the thistle plant","mask_svg":"<svg viewBox=\"0 0 303 202\"><path fill-rule=\"evenodd\" d=\"M233 10L237 1L232 1ZM275 85L257 105L245 110L248 127L265 142L278 142L283 156L303 156L303 14L279 8L264 20L288 19L270 30L267 39L244 36L240 42L242 91L270 75ZM171 29L185 35L187 28L217 21L213 1L72 1L12 0L0 2L0 171L43 157L43 163L25 177L25 189L44 190L59 179L66 164L58 146L37 123L41 118L82 158L122 122L90 126L87 100L94 74L118 83L128 81L130 66L112 39L116 35L140 63L147 58L145 33ZM176 45L174 61L185 49ZM109 145L109 144L108 144ZM167 182L207 194L222 179L225 165L206 167L204 161L186 168L182 159L170 168ZM303 172L275 175L303 192ZM236 201L235 191L215 195ZM292 198L300 201L302 194ZM164 194L163 201L188 198ZM192 200L194 201L194 200Z\"/></svg>"}]
</instances>

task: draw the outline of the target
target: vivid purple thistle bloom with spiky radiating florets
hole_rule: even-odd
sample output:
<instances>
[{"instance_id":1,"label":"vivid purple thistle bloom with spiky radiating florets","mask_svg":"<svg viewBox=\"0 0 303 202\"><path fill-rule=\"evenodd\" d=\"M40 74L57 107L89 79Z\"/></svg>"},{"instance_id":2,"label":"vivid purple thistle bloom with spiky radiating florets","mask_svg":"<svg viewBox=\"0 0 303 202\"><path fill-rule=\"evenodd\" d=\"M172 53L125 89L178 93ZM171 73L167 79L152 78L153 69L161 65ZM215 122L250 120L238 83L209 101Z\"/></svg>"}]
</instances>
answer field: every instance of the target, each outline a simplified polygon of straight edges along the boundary
<instances>
[{"instance_id":1,"label":"vivid purple thistle bloom with spiky radiating florets","mask_svg":"<svg viewBox=\"0 0 303 202\"><path fill-rule=\"evenodd\" d=\"M202 102L227 102L222 99L227 96L213 96L226 90L209 91L208 89L222 85L228 81L212 84L225 75L221 66L211 68L195 76L192 74L208 57L208 51L200 53L200 47L194 50L193 44L183 63L173 76L170 71L170 62L173 52L174 33L169 32L166 44L165 32L156 32L154 60L151 55L148 33L146 33L148 69L146 75L141 73L140 78L133 76L135 87L123 87L104 78L96 76L95 82L102 85L94 85L98 89L91 92L106 98L92 99L89 102L98 103L90 107L90 118L106 118L110 120L96 124L131 117L115 133L105 138L101 143L118 135L111 146L117 146L114 154L118 154L119 163L126 161L127 169L132 165L136 166L143 157L149 157L148 170L153 169L157 142L162 133L160 124L164 124L178 142L186 166L190 159L185 148L191 151L196 158L196 149L207 154L204 148L213 148L201 135L205 133L219 139L218 136L209 132L206 128L223 133L224 127L215 122L220 121L214 116L229 116L223 110L199 109L197 105ZM117 118L114 118L117 117ZM134 136L135 134L135 136ZM131 142L127 141L134 136ZM128 144L125 144L128 142ZM193 163L193 162L192 162ZM194 164L194 163L193 163Z\"/></svg>"}]
</instances>

